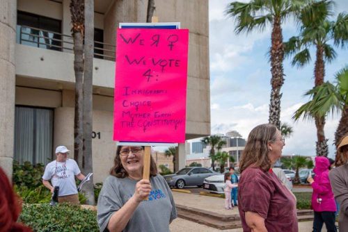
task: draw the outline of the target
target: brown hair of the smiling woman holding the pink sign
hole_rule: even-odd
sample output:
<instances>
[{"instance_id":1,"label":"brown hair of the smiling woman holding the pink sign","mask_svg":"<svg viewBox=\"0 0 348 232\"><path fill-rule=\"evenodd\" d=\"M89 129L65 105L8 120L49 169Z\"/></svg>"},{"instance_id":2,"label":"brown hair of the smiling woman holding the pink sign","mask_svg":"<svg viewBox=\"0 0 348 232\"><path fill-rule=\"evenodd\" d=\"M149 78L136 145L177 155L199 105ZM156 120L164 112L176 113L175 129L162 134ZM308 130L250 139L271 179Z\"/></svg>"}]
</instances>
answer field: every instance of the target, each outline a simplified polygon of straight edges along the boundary
<instances>
[{"instance_id":1,"label":"brown hair of the smiling woman holding the pink sign","mask_svg":"<svg viewBox=\"0 0 348 232\"><path fill-rule=\"evenodd\" d=\"M110 170L110 174L112 176L116 176L117 178L125 178L128 176L127 171L122 167L121 158L120 158L120 151L121 148L124 146L118 146L116 149L116 156L113 160L113 167ZM141 146L143 147L143 146ZM145 147L143 147L145 149ZM155 163L155 160L150 156L150 176L156 176L157 175L157 166Z\"/></svg>"}]
</instances>

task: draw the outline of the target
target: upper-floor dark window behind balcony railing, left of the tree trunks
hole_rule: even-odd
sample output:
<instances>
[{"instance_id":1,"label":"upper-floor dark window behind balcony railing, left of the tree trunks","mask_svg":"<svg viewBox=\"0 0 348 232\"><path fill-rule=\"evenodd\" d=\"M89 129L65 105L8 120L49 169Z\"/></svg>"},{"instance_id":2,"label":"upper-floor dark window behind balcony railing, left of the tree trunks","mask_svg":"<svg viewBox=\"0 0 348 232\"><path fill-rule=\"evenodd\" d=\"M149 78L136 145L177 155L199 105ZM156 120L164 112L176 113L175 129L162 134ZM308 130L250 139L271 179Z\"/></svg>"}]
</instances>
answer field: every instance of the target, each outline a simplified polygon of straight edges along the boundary
<instances>
[{"instance_id":1,"label":"upper-floor dark window behind balcony railing, left of the tree trunks","mask_svg":"<svg viewBox=\"0 0 348 232\"><path fill-rule=\"evenodd\" d=\"M17 44L61 51L61 39L61 20L17 12Z\"/></svg>"}]
</instances>

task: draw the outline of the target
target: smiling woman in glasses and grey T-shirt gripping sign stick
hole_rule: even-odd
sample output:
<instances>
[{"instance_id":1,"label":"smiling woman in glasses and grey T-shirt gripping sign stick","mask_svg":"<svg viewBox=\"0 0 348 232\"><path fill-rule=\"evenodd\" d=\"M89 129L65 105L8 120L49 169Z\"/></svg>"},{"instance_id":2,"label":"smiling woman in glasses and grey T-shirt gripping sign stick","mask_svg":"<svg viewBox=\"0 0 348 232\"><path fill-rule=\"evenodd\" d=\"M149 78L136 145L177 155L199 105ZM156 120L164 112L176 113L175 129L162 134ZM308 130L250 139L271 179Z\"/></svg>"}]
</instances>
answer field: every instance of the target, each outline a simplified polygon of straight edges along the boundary
<instances>
[{"instance_id":1,"label":"smiling woman in glasses and grey T-shirt gripping sign stick","mask_svg":"<svg viewBox=\"0 0 348 232\"><path fill-rule=\"evenodd\" d=\"M169 231L177 217L171 189L150 160L143 176L144 147L119 146L97 205L100 231Z\"/></svg>"}]
</instances>

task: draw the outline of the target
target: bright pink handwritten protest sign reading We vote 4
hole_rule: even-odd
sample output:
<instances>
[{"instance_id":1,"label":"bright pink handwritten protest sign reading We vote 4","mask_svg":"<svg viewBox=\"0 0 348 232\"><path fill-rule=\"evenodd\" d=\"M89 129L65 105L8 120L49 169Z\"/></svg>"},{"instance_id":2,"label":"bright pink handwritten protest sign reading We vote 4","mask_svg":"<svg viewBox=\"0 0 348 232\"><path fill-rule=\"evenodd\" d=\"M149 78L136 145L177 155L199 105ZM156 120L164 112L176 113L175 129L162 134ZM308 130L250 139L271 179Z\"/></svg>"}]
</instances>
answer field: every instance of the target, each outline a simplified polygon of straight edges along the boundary
<instances>
[{"instance_id":1,"label":"bright pink handwritten protest sign reading We vote 4","mask_svg":"<svg viewBox=\"0 0 348 232\"><path fill-rule=\"evenodd\" d=\"M187 29L118 29L113 140L184 142Z\"/></svg>"}]
</instances>

